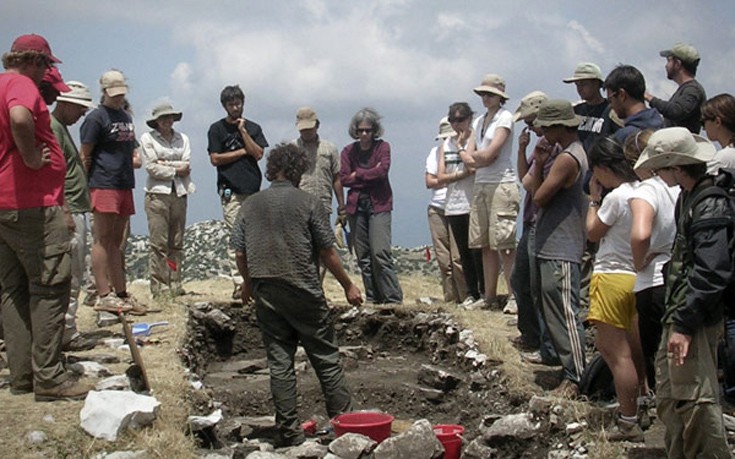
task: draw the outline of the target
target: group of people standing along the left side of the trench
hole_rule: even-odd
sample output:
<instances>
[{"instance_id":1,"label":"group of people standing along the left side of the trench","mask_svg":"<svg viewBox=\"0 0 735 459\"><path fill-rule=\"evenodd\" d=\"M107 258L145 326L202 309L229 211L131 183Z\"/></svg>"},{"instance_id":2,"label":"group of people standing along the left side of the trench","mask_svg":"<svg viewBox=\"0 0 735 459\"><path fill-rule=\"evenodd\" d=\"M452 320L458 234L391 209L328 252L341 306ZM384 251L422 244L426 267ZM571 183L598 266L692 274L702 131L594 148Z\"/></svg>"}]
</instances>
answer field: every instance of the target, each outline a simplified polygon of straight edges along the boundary
<instances>
[{"instance_id":1,"label":"group of people standing along the left side of the trench","mask_svg":"<svg viewBox=\"0 0 735 459\"><path fill-rule=\"evenodd\" d=\"M96 345L76 324L86 277L88 218L95 310L134 315L148 311L128 293L124 272L123 247L135 212L134 169L142 165L139 148L150 175L146 211L156 228L151 235L163 241L158 244L152 237L153 252L160 255L151 257L152 279L178 290L180 277L170 274L176 269L160 269L160 259L179 261L185 196L193 191L188 138L172 129L181 113L170 106L156 107L148 122L153 131L141 138L141 145L122 72L102 74L102 97L96 105L86 85L64 82L59 63L43 37L22 35L3 55L6 71L0 75L0 169L5 187L0 203L0 312L10 390L34 393L39 401L79 399L89 390L62 359L62 351ZM77 148L69 127L85 114ZM178 199L162 206L165 198L156 199L159 194ZM151 288L155 293L158 284L152 282Z\"/></svg>"}]
</instances>

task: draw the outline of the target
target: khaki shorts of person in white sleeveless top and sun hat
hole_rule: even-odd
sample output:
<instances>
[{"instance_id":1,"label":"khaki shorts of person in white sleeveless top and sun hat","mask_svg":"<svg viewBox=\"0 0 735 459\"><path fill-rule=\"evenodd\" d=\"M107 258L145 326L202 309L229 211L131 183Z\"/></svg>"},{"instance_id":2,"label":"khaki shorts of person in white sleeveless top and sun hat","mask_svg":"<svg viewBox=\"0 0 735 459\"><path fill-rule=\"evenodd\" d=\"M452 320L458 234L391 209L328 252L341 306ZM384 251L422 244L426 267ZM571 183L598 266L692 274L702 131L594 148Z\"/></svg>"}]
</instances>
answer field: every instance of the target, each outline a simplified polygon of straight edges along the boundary
<instances>
[{"instance_id":1,"label":"khaki shorts of person in white sleeveless top and sun hat","mask_svg":"<svg viewBox=\"0 0 735 459\"><path fill-rule=\"evenodd\" d=\"M515 249L520 202L515 182L476 183L470 209L470 248Z\"/></svg>"}]
</instances>

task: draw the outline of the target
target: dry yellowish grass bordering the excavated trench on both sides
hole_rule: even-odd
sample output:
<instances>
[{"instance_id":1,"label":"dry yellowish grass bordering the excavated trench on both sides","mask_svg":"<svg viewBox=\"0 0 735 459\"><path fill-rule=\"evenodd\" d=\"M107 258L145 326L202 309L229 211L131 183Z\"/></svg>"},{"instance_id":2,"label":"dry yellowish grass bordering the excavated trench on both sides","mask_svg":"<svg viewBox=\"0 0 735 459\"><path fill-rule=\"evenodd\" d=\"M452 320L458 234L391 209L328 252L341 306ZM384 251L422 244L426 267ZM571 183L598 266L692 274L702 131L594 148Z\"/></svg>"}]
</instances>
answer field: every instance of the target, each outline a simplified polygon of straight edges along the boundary
<instances>
[{"instance_id":1,"label":"dry yellowish grass bordering the excavated trench on both sides","mask_svg":"<svg viewBox=\"0 0 735 459\"><path fill-rule=\"evenodd\" d=\"M353 279L359 276L353 276ZM357 280L357 279L356 279ZM416 299L420 297L441 298L441 286L437 279L425 276L401 276L405 302L402 308L436 310L436 306L419 306ZM503 282L501 281L502 285ZM325 283L327 298L344 303L344 294L336 280L327 276ZM160 412L152 428L139 432L127 432L116 442L110 443L95 440L79 427L79 411L84 402L36 403L32 395L13 396L7 390L0 391L0 457L26 458L86 458L94 457L102 451L142 450L148 451L155 458L190 458L195 457L196 446L186 435L186 418L189 415L189 401L192 398L191 388L186 380L186 370L178 355L178 349L185 339L186 306L185 303L199 301L229 301L232 285L229 280L215 279L191 282L185 285L187 295L177 301L160 301L153 303L145 284L133 284L130 290L141 300L162 309L161 312L139 318L139 322L167 320L170 325L158 329L155 337L161 340L158 345L142 348L143 359L154 396L161 402ZM502 287L501 287L502 288ZM507 321L510 316L499 312L465 311L454 305L440 304L444 310L452 312L457 321L474 332L482 352L492 360L503 362L501 369L508 387L530 398L533 394L541 394L533 382L533 372L522 362L518 352L511 346L508 338L515 336L514 326ZM81 306L79 325L83 331L95 330L95 314L89 307ZM121 331L119 326L113 327ZM121 374L129 365L129 353L123 353L98 346L94 353L116 354L122 363L109 365L114 374ZM7 374L7 370L3 372ZM92 381L96 382L96 381ZM581 404L583 405L583 404ZM580 408L583 409L583 408ZM53 416L53 422L44 420L47 415ZM580 418L582 413L580 413ZM40 446L29 446L25 440L28 432L44 431L48 441ZM610 451L605 450L605 451ZM592 456L591 456L592 457ZM611 457L611 456L594 456ZM613 456L614 457L614 456Z\"/></svg>"}]
</instances>

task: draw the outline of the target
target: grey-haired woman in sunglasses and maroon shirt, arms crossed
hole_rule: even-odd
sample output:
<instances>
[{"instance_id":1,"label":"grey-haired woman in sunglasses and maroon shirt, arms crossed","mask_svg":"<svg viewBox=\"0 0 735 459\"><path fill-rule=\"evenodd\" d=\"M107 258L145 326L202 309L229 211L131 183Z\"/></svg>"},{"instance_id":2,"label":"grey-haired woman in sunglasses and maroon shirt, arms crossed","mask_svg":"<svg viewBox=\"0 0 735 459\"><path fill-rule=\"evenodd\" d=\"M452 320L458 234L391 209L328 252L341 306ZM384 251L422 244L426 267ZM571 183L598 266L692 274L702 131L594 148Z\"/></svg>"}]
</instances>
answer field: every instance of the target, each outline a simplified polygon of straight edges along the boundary
<instances>
[{"instance_id":1,"label":"grey-haired woman in sunglasses and maroon shirt, arms crossed","mask_svg":"<svg viewBox=\"0 0 735 459\"><path fill-rule=\"evenodd\" d=\"M388 180L390 144L382 140L380 115L363 108L348 129L355 142L340 155L339 178L347 191L347 214L357 263L362 273L365 297L373 303L401 303L391 253L393 191Z\"/></svg>"}]
</instances>

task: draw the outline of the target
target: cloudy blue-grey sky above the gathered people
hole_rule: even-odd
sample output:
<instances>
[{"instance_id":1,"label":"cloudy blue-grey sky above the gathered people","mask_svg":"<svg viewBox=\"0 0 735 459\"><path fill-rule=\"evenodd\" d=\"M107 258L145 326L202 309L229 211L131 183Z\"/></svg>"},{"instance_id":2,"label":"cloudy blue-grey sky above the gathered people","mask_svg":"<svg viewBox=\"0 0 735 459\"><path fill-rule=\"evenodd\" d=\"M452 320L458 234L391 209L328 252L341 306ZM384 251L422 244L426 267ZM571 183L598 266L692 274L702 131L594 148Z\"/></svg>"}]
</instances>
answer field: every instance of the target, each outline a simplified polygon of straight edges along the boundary
<instances>
[{"instance_id":1,"label":"cloudy blue-grey sky above the gathered people","mask_svg":"<svg viewBox=\"0 0 735 459\"><path fill-rule=\"evenodd\" d=\"M581 61L603 74L635 65L650 92L668 97L675 85L658 52L683 41L699 49L698 79L714 96L735 91L734 24L732 0L4 0L0 49L23 33L44 35L64 77L95 98L101 73L122 70L139 136L157 101L182 110L176 127L191 138L198 187L190 223L221 218L206 133L224 116L224 86L243 88L245 116L271 145L296 136L296 109L308 104L321 136L341 149L350 117L372 106L392 145L393 241L413 247L430 243L423 171L438 120L455 101L481 110L471 89L484 74L505 77L510 110L537 89L576 100L561 80ZM146 233L138 172L133 232Z\"/></svg>"}]
</instances>

